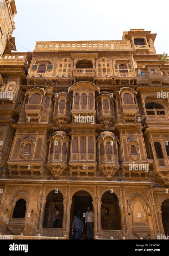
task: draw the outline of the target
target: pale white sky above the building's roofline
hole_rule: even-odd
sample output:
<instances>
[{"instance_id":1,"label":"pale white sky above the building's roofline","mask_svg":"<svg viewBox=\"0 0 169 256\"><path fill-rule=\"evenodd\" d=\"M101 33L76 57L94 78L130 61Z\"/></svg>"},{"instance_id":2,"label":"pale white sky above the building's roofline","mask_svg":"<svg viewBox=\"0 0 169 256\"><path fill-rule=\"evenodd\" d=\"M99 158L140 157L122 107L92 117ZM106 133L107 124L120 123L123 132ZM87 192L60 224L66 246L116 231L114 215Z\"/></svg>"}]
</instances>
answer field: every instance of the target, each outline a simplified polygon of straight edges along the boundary
<instances>
[{"instance_id":1,"label":"pale white sky above the building's roofline","mask_svg":"<svg viewBox=\"0 0 169 256\"><path fill-rule=\"evenodd\" d=\"M167 0L15 0L17 51L36 41L122 40L123 31L157 33L157 54L169 55ZM19 45L26 49L23 49Z\"/></svg>"}]
</instances>

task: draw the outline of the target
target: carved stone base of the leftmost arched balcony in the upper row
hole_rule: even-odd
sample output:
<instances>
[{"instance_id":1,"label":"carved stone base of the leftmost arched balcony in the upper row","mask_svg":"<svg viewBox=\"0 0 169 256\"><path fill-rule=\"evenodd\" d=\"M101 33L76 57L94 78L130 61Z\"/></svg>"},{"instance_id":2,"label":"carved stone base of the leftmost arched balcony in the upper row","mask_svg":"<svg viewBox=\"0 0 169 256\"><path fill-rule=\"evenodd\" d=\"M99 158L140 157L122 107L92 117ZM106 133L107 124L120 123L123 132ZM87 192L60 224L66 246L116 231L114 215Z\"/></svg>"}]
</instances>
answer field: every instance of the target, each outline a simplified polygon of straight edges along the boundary
<instances>
[{"instance_id":1,"label":"carved stone base of the leftmost arched balcony in the upper row","mask_svg":"<svg viewBox=\"0 0 169 256\"><path fill-rule=\"evenodd\" d=\"M25 114L26 114L26 121L39 121L41 114L43 111L42 104L26 104L25 105Z\"/></svg>"}]
</instances>

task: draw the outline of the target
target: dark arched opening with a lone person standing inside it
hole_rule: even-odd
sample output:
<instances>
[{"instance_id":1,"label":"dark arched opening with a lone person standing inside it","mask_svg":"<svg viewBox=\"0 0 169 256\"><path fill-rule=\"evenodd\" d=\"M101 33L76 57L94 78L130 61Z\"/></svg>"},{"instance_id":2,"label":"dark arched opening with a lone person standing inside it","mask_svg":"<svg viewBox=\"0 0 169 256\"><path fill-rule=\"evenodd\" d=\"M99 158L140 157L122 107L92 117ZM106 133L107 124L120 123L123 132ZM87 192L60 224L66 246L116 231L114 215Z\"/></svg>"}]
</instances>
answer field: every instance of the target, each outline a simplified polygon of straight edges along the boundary
<instances>
[{"instance_id":1,"label":"dark arched opening with a lone person standing inside it","mask_svg":"<svg viewBox=\"0 0 169 256\"><path fill-rule=\"evenodd\" d=\"M61 219L58 222L57 228L62 228L63 221L63 195L60 191L51 191L47 196L47 202L45 205L44 217L43 217L43 227L52 228L53 226L53 207L58 207Z\"/></svg>"}]
</instances>

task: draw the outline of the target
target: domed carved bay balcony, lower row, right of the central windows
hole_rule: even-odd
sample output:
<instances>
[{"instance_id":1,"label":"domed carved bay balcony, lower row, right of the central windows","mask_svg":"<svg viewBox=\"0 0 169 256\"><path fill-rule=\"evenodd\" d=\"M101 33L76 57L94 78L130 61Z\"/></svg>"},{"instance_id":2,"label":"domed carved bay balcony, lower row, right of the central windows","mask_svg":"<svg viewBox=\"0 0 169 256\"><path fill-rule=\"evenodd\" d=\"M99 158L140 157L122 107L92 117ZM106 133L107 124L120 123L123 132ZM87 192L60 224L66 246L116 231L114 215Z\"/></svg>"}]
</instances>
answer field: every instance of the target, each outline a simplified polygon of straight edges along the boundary
<instances>
[{"instance_id":1,"label":"domed carved bay balcony, lower row, right of the central windows","mask_svg":"<svg viewBox=\"0 0 169 256\"><path fill-rule=\"evenodd\" d=\"M119 159L118 159L118 138L112 132L102 132L97 139L99 163L98 167L110 181L116 171L118 171Z\"/></svg>"}]
</instances>

